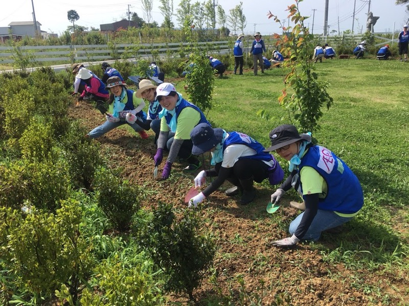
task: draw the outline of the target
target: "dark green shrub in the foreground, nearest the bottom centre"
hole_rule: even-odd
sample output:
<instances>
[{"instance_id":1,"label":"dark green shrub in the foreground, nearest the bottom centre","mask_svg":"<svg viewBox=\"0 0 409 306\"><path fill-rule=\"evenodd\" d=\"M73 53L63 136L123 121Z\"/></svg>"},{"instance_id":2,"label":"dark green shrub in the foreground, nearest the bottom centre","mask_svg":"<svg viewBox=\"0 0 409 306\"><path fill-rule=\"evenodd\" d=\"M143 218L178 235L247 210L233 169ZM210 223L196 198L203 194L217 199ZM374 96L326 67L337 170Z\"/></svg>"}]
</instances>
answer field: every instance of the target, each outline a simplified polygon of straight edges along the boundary
<instances>
[{"instance_id":1,"label":"dark green shrub in the foreground, nearest the bottom centre","mask_svg":"<svg viewBox=\"0 0 409 306\"><path fill-rule=\"evenodd\" d=\"M177 219L172 204L160 203L143 239L153 262L169 277L165 290L184 292L191 300L216 252L212 234L201 227L199 210L186 209Z\"/></svg>"}]
</instances>

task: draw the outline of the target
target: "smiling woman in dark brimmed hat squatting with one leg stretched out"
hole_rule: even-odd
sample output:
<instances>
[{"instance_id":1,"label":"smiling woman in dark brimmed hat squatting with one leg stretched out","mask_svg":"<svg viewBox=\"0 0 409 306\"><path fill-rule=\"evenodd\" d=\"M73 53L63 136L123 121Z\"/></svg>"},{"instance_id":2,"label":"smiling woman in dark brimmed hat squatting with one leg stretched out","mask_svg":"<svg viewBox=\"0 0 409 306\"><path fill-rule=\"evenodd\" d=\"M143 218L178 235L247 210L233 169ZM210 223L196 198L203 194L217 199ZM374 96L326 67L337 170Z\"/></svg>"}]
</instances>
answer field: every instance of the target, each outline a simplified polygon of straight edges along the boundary
<instances>
[{"instance_id":1,"label":"smiling woman in dark brimmed hat squatting with one leg stretched out","mask_svg":"<svg viewBox=\"0 0 409 306\"><path fill-rule=\"evenodd\" d=\"M143 139L149 137L141 126L135 124L137 121L146 121L146 113L142 110L145 107L145 102L143 99L138 99L135 92L127 89L125 85L126 83L121 81L119 77L110 77L107 80L106 87L109 88L114 99L109 104L106 122L90 131L89 137L97 138L124 124L132 127Z\"/></svg>"}]
</instances>

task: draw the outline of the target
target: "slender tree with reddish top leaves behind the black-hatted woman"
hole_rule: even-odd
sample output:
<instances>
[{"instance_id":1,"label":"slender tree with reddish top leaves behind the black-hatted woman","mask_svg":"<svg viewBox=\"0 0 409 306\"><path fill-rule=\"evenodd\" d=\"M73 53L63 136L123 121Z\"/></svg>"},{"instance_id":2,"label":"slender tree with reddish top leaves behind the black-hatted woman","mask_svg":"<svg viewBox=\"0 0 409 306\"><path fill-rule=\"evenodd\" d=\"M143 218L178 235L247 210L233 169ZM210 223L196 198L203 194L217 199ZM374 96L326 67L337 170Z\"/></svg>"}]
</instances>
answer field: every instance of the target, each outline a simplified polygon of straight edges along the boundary
<instances>
[{"instance_id":1,"label":"slender tree with reddish top leaves behind the black-hatted woman","mask_svg":"<svg viewBox=\"0 0 409 306\"><path fill-rule=\"evenodd\" d=\"M287 71L284 77L285 88L278 98L280 105L286 108L293 119L302 127L303 132L313 132L320 129L318 121L323 116L321 108L326 105L330 108L333 100L326 89L328 82L319 82L318 75L313 72L314 62L310 56L314 50L314 35L310 34L309 28L304 24L308 17L302 16L299 11L299 3L288 6L288 16L294 22L294 27L286 28L278 17L271 12L268 18L274 18L283 29L282 35L275 34L276 47L286 58L282 64ZM287 90L294 92L287 94Z\"/></svg>"}]
</instances>

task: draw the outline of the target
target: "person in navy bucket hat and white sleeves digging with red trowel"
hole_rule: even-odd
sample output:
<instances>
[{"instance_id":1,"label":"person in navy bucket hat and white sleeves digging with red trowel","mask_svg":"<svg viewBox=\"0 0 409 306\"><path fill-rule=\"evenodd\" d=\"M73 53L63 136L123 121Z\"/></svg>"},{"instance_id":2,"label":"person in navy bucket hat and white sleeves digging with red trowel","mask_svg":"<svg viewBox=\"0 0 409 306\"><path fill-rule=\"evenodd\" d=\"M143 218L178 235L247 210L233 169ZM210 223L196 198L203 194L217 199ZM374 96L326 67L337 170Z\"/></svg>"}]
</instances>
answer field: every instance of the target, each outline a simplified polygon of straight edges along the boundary
<instances>
[{"instance_id":1,"label":"person in navy bucket hat and white sleeves digging with red trowel","mask_svg":"<svg viewBox=\"0 0 409 306\"><path fill-rule=\"evenodd\" d=\"M225 180L234 187L226 190L227 196L240 194L240 204L245 205L256 197L254 181L261 183L268 178L271 185L276 185L284 178L280 164L270 154L263 152L264 147L252 137L240 132L226 132L213 129L206 123L197 125L190 133L192 154L211 152L210 170L202 170L195 178L195 187L200 187L206 177L217 178L203 192L189 201L189 207L196 207L211 193L216 191Z\"/></svg>"}]
</instances>

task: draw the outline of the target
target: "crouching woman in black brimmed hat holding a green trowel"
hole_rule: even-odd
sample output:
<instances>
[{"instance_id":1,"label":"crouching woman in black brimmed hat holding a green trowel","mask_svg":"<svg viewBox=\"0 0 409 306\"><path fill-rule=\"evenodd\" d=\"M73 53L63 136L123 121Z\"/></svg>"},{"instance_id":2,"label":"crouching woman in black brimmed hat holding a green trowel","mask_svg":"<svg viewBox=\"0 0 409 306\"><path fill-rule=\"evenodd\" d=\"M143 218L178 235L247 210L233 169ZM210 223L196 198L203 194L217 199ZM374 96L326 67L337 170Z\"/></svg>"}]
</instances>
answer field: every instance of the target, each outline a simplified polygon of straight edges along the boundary
<instances>
[{"instance_id":1,"label":"crouching woman in black brimmed hat holding a green trowel","mask_svg":"<svg viewBox=\"0 0 409 306\"><path fill-rule=\"evenodd\" d=\"M271 195L271 202L280 201L292 185L305 202L305 211L289 226L292 236L272 245L288 247L300 240L317 241L324 230L357 215L363 205L362 188L344 161L328 149L311 144L310 133L300 135L293 125L281 125L269 137L271 147L264 151L276 151L288 160L291 173Z\"/></svg>"}]
</instances>

